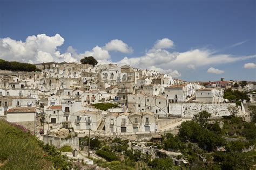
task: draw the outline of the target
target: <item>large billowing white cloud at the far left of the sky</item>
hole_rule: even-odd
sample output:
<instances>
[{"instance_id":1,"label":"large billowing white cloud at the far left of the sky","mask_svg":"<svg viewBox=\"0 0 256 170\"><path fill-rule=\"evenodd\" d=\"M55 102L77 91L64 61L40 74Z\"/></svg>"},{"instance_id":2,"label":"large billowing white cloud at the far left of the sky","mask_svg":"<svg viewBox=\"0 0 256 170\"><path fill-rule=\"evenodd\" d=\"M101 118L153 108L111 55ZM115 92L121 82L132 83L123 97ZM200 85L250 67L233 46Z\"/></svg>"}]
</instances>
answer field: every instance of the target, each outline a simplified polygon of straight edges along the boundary
<instances>
[{"instance_id":1,"label":"large billowing white cloud at the far left of the sky","mask_svg":"<svg viewBox=\"0 0 256 170\"><path fill-rule=\"evenodd\" d=\"M23 42L11 38L0 39L0 58L21 62L76 61L69 55L59 55L58 47L63 45L64 38L59 34L49 37L45 34L29 36Z\"/></svg>"}]
</instances>

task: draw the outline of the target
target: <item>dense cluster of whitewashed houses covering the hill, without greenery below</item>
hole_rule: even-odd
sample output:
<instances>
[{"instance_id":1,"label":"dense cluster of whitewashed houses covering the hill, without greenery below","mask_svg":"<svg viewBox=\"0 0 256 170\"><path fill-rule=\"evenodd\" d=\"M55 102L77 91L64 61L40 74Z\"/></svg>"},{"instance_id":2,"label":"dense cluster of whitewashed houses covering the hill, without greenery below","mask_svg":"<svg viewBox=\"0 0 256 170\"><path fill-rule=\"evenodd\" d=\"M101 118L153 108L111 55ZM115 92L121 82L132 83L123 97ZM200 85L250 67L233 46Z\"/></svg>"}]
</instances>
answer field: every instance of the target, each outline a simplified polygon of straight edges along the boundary
<instances>
[{"instance_id":1,"label":"dense cluster of whitewashed houses covering the hill, without greenery below","mask_svg":"<svg viewBox=\"0 0 256 170\"><path fill-rule=\"evenodd\" d=\"M179 104L224 104L224 89L234 84L221 80L203 86L129 65L48 62L36 67L41 72L0 70L0 118L31 130L42 116L41 122L52 127L85 132L157 131L173 115L186 116L189 109L180 112ZM245 88L255 90L255 84ZM92 107L97 103L117 103L119 108L98 110Z\"/></svg>"}]
</instances>

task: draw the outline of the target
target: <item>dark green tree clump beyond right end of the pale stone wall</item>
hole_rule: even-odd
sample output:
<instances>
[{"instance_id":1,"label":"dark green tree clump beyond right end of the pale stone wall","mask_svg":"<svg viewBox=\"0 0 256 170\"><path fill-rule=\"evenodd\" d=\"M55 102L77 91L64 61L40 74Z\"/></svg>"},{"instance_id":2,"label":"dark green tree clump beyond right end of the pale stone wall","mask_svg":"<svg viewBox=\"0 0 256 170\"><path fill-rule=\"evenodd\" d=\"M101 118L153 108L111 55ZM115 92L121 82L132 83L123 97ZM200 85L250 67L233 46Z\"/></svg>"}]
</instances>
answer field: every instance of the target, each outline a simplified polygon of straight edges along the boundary
<instances>
[{"instance_id":1,"label":"dark green tree clump beyond right end of the pale stone wall","mask_svg":"<svg viewBox=\"0 0 256 170\"><path fill-rule=\"evenodd\" d=\"M238 101L238 100L250 101L250 98L245 92L238 91L238 90L232 91L231 88L228 88L224 91L223 97L230 101Z\"/></svg>"}]
</instances>

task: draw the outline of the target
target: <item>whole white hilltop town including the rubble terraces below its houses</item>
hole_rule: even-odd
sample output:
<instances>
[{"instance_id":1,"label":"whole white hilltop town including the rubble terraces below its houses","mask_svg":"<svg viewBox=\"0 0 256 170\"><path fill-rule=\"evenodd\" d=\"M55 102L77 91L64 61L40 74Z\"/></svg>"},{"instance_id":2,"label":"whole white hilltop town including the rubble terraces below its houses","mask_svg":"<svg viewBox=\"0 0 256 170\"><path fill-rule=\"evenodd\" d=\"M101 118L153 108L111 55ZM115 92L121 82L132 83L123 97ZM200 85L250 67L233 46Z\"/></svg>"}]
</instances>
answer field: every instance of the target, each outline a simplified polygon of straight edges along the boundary
<instances>
[{"instance_id":1,"label":"whole white hilltop town including the rubble terraces below its houses","mask_svg":"<svg viewBox=\"0 0 256 170\"><path fill-rule=\"evenodd\" d=\"M112 159L107 160L104 150L92 148L88 153L88 137L91 145L96 138L101 143L117 139L121 145L127 141L127 148L152 155L149 159L164 154L176 165L188 165L190 160L180 151L147 142L161 144L166 134L175 136L181 124L200 112L210 114L209 124L230 116L251 122L250 106L256 103L256 82L224 78L188 82L116 64L45 62L35 66L35 72L0 70L0 118L24 126L45 144L69 146L71 151L63 154L91 166L104 167L98 160ZM233 93L241 97L232 98Z\"/></svg>"}]
</instances>

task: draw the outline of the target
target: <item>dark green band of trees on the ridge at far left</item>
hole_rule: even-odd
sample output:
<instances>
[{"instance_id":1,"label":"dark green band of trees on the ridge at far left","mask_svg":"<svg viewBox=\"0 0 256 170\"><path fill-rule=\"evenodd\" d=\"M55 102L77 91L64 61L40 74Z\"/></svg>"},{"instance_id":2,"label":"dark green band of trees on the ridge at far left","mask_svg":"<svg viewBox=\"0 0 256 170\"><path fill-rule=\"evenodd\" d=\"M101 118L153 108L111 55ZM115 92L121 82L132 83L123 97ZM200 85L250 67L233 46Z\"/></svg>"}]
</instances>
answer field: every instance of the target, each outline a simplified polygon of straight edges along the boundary
<instances>
[{"instance_id":1,"label":"dark green band of trees on the ridge at far left","mask_svg":"<svg viewBox=\"0 0 256 170\"><path fill-rule=\"evenodd\" d=\"M16 61L9 62L2 59L0 59L0 69L24 72L35 72L38 70L35 65L32 65L30 63L22 63Z\"/></svg>"}]
</instances>

